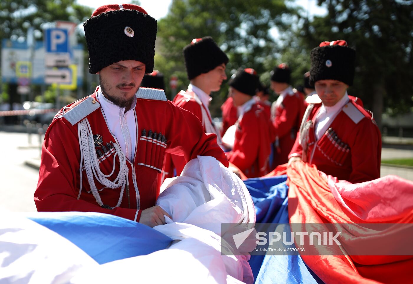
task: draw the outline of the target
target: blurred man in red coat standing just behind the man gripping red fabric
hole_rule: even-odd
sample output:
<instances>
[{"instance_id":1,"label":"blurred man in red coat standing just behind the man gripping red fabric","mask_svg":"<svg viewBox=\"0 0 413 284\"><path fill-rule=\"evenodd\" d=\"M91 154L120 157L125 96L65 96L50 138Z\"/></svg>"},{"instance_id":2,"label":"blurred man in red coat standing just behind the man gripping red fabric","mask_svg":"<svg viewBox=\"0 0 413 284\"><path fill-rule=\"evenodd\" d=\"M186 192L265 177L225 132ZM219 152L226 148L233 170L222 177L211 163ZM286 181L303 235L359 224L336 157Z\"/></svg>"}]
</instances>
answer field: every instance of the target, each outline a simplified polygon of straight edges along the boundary
<instances>
[{"instance_id":1,"label":"blurred man in red coat standing just behind the man gripping red fabric","mask_svg":"<svg viewBox=\"0 0 413 284\"><path fill-rule=\"evenodd\" d=\"M273 167L288 162L288 153L294 145L304 114L304 96L291 87L290 74L291 70L285 63L271 71L271 88L279 94L271 106L275 135Z\"/></svg>"}]
</instances>

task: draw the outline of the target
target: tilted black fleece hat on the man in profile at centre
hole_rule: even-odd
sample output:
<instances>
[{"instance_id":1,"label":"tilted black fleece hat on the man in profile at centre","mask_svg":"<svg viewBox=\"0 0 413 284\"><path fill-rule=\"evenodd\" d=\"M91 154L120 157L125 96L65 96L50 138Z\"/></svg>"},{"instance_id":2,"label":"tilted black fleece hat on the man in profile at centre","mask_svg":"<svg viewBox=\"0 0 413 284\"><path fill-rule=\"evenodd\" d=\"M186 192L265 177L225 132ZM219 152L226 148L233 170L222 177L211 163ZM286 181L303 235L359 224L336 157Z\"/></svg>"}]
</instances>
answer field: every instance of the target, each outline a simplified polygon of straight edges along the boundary
<instances>
[{"instance_id":1,"label":"tilted black fleece hat on the man in profile at centre","mask_svg":"<svg viewBox=\"0 0 413 284\"><path fill-rule=\"evenodd\" d=\"M228 63L228 56L211 37L194 38L184 47L183 56L189 80L202 73L208 73L222 63Z\"/></svg>"}]
</instances>

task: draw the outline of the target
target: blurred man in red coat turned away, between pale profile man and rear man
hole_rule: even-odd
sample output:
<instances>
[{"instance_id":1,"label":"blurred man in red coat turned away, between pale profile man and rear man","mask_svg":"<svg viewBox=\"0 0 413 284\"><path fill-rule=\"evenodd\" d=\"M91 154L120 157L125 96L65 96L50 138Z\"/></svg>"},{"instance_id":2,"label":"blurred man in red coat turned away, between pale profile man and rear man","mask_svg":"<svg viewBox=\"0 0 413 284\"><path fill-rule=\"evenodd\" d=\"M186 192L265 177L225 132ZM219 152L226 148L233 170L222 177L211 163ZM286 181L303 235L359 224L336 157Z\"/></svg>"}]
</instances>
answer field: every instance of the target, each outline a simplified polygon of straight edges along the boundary
<instances>
[{"instance_id":1,"label":"blurred man in red coat turned away, between pale profile man and rear man","mask_svg":"<svg viewBox=\"0 0 413 284\"><path fill-rule=\"evenodd\" d=\"M232 151L226 153L247 178L263 176L269 170L271 153L270 121L254 95L259 78L252 68L239 70L230 80L230 96L238 108L235 123L235 141Z\"/></svg>"}]
</instances>

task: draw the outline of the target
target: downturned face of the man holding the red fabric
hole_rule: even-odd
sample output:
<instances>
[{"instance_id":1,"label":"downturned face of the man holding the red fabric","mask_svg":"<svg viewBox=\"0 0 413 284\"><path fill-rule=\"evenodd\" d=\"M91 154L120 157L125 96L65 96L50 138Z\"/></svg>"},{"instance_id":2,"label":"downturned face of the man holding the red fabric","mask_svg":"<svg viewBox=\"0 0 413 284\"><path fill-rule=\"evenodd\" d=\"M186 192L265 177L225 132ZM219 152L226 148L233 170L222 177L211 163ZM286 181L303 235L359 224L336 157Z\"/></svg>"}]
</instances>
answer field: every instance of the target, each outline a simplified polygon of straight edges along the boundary
<instances>
[{"instance_id":1,"label":"downturned face of the man holding the red fabric","mask_svg":"<svg viewBox=\"0 0 413 284\"><path fill-rule=\"evenodd\" d=\"M346 94L349 85L337 80L318 80L314 86L324 106L334 106Z\"/></svg>"}]
</instances>

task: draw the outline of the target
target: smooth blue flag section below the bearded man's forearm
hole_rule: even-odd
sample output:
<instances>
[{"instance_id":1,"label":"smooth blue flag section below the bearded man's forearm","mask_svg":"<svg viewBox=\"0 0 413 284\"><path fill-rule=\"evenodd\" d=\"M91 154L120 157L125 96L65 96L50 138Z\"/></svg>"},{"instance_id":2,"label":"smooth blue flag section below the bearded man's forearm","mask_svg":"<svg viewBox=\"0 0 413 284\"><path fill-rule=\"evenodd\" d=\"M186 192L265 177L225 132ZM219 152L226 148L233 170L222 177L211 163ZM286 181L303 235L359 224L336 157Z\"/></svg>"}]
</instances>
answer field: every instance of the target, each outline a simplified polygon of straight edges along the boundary
<instances>
[{"instance_id":1,"label":"smooth blue flag section below the bearded man's forearm","mask_svg":"<svg viewBox=\"0 0 413 284\"><path fill-rule=\"evenodd\" d=\"M36 212L25 216L57 232L97 263L166 249L172 239L147 225L96 212Z\"/></svg>"}]
</instances>

